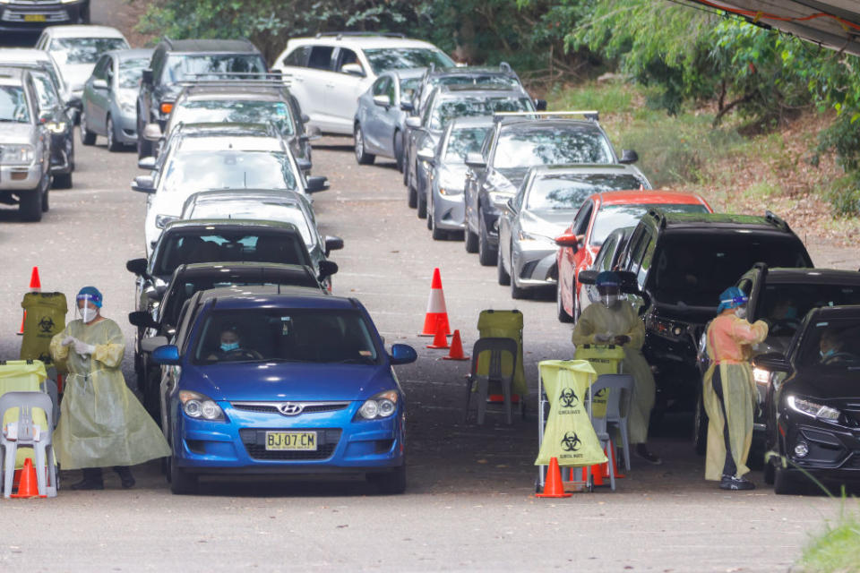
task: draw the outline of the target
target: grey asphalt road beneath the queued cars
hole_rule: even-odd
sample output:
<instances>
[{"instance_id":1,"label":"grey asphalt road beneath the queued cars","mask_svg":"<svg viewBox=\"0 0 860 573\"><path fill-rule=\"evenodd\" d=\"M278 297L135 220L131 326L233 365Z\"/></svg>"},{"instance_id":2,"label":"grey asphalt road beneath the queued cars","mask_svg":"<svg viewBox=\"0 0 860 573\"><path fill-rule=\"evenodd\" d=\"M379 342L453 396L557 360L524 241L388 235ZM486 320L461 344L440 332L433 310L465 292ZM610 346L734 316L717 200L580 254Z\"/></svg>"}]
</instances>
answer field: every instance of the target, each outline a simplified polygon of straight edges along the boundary
<instances>
[{"instance_id":1,"label":"grey asphalt road beneath the queued cars","mask_svg":"<svg viewBox=\"0 0 860 573\"><path fill-rule=\"evenodd\" d=\"M143 255L144 196L131 192L136 154L77 144L73 189L52 191L38 224L0 210L0 359L17 358L20 302L30 269L42 288L73 296L99 286L104 313L129 341L124 372L134 386L133 277L125 261ZM702 479L690 421L670 417L653 449L662 466L634 459L616 492L599 488L567 500L538 500L536 363L572 357L570 327L550 300L514 302L460 242L434 242L406 206L390 162L359 167L351 140L326 138L314 149L314 174L331 190L316 198L323 232L346 248L334 293L359 298L386 342L416 346L415 364L398 368L407 392L409 490L379 496L359 480L204 482L199 496L170 494L159 465L135 468L138 486L104 492L64 490L53 500L0 502L3 570L226 569L777 571L797 559L840 502L776 496L761 473L754 492L727 493ZM860 255L807 245L819 266L856 269ZM462 422L468 363L427 350L421 329L430 278L442 271L453 329L466 346L486 308L524 313L529 415L512 427L489 414L483 427ZM69 473L66 479L77 479Z\"/></svg>"}]
</instances>

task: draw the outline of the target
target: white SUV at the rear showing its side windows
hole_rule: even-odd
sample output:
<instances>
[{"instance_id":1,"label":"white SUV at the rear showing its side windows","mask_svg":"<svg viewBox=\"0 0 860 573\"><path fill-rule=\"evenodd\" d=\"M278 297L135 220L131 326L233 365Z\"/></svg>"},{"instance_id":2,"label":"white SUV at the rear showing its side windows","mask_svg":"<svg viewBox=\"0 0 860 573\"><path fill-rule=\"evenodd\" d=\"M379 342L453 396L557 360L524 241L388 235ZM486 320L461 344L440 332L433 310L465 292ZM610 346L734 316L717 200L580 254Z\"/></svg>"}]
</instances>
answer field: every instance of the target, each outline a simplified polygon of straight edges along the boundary
<instances>
[{"instance_id":1,"label":"white SUV at the rear showing its side windows","mask_svg":"<svg viewBox=\"0 0 860 573\"><path fill-rule=\"evenodd\" d=\"M351 135L358 97L380 73L430 64L455 65L433 44L402 34L332 32L289 40L272 71L284 74L311 124L323 132Z\"/></svg>"}]
</instances>

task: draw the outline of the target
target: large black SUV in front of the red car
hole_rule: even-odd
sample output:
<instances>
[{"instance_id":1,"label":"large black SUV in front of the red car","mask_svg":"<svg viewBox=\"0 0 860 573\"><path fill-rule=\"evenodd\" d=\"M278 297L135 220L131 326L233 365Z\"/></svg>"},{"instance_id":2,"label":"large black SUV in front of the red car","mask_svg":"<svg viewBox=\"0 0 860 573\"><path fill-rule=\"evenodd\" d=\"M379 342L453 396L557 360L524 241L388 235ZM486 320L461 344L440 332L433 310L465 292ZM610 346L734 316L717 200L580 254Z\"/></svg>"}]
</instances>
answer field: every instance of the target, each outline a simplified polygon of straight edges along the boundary
<instances>
[{"instance_id":1,"label":"large black SUV in front of the red car","mask_svg":"<svg viewBox=\"0 0 860 573\"><path fill-rule=\"evenodd\" d=\"M692 410L700 399L697 349L717 314L719 295L757 262L812 268L803 242L785 221L716 213L649 210L633 230L619 269L636 275L648 304L642 352L655 369L656 420L669 406Z\"/></svg>"}]
</instances>

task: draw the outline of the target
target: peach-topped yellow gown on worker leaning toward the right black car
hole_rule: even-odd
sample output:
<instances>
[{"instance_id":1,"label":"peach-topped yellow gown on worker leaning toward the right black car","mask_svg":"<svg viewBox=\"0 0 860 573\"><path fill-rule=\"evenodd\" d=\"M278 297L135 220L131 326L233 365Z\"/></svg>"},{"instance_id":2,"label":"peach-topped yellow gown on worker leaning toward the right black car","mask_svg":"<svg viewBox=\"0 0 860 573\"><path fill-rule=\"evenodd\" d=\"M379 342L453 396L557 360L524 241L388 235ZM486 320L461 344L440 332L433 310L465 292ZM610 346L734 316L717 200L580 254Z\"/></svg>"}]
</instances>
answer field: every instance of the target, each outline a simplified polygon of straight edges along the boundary
<instances>
[{"instance_id":1,"label":"peach-topped yellow gown on worker leaning toward the right black car","mask_svg":"<svg viewBox=\"0 0 860 573\"><path fill-rule=\"evenodd\" d=\"M710 366L705 372L702 400L708 413L708 456L705 458L705 479L719 481L726 462L726 441L723 434L723 411L714 391L714 371L719 368L728 419L728 440L737 467L736 477L748 473L746 458L753 443L753 415L758 391L753 380L750 357L753 345L768 336L764 321L750 324L735 314L723 314L708 327L708 356Z\"/></svg>"}]
</instances>

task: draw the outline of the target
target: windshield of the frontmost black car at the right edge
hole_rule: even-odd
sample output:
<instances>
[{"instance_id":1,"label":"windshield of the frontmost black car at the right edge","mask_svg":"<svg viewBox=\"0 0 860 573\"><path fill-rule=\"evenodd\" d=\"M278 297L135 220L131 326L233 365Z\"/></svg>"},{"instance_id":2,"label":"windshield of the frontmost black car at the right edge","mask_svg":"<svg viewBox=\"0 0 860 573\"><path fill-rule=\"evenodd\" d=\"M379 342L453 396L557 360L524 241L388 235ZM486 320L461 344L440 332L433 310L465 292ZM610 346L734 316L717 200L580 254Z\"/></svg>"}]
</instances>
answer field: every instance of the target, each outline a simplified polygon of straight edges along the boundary
<instances>
[{"instance_id":1,"label":"windshield of the frontmost black car at the right edge","mask_svg":"<svg viewBox=\"0 0 860 573\"><path fill-rule=\"evenodd\" d=\"M839 319L810 322L804 332L797 364L828 372L860 372L860 321Z\"/></svg>"}]
</instances>

